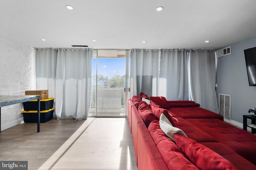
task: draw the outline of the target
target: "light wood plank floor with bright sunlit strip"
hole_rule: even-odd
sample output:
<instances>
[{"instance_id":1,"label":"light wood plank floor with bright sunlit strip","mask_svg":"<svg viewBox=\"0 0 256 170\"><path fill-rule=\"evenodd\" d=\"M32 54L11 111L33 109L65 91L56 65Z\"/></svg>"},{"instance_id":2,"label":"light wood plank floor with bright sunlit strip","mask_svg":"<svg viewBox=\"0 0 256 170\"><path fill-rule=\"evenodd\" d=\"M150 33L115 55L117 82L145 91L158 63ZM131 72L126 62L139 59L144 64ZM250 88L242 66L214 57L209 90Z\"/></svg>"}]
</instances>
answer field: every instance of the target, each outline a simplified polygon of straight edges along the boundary
<instances>
[{"instance_id":1,"label":"light wood plank floor with bright sunlit strip","mask_svg":"<svg viewBox=\"0 0 256 170\"><path fill-rule=\"evenodd\" d=\"M137 170L127 118L52 119L0 133L0 160L27 160L29 170Z\"/></svg>"}]
</instances>

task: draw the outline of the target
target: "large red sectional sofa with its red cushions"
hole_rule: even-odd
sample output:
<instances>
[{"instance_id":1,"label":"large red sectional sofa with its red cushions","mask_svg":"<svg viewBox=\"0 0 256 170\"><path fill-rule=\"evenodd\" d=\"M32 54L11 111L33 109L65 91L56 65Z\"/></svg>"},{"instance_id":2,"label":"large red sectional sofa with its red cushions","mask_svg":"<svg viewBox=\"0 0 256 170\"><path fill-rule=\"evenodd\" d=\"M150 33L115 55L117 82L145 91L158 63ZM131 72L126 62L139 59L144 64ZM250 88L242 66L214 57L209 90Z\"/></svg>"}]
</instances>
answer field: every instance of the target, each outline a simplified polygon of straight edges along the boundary
<instances>
[{"instance_id":1,"label":"large red sectional sofa with its red cushions","mask_svg":"<svg viewBox=\"0 0 256 170\"><path fill-rule=\"evenodd\" d=\"M160 128L162 113L187 137L170 139ZM133 96L128 120L138 170L256 170L256 135L193 101Z\"/></svg>"}]
</instances>

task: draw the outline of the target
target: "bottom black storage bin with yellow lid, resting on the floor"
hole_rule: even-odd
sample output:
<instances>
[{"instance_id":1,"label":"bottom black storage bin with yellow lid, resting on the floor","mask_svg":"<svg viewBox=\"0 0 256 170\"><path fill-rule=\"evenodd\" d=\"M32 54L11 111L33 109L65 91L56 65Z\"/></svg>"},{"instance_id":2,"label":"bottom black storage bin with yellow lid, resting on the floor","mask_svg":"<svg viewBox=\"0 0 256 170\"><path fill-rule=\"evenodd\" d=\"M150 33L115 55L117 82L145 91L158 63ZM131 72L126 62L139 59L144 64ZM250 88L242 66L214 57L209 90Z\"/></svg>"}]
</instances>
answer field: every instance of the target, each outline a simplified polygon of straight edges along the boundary
<instances>
[{"instance_id":1,"label":"bottom black storage bin with yellow lid, resting on the floor","mask_svg":"<svg viewBox=\"0 0 256 170\"><path fill-rule=\"evenodd\" d=\"M45 123L53 118L55 108L40 111L40 123ZM37 123L37 111L22 111L25 123Z\"/></svg>"}]
</instances>

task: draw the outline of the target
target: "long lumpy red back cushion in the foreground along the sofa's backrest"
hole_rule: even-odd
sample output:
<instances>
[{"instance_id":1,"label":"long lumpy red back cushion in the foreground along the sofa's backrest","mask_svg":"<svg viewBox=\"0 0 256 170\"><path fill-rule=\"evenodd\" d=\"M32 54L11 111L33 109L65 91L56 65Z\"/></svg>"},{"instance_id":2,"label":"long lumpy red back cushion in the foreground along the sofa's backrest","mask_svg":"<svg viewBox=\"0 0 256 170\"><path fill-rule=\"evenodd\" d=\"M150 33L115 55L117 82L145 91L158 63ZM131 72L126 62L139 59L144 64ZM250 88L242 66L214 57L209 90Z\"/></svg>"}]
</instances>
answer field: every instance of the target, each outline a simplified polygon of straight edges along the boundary
<instances>
[{"instance_id":1,"label":"long lumpy red back cushion in the foreground along the sofa's backrest","mask_svg":"<svg viewBox=\"0 0 256 170\"><path fill-rule=\"evenodd\" d=\"M176 144L168 138L165 133L160 129L159 121L152 121L148 127L148 131L160 154L162 155L164 162L170 170L198 170L182 151L176 146Z\"/></svg>"}]
</instances>

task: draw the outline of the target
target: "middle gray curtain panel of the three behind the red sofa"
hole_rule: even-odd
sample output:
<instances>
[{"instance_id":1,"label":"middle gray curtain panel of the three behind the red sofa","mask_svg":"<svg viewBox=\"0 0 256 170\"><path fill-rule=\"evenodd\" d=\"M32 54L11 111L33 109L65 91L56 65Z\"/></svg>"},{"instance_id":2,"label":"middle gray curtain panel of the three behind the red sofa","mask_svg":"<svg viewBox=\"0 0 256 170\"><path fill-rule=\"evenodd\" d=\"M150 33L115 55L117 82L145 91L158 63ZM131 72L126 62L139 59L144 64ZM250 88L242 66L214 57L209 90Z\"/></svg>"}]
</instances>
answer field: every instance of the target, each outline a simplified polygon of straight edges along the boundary
<instances>
[{"instance_id":1,"label":"middle gray curtain panel of the three behind the red sofa","mask_svg":"<svg viewBox=\"0 0 256 170\"><path fill-rule=\"evenodd\" d=\"M187 50L161 49L159 89L167 100L189 100Z\"/></svg>"}]
</instances>

